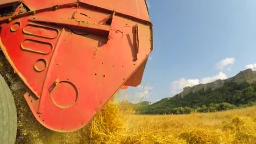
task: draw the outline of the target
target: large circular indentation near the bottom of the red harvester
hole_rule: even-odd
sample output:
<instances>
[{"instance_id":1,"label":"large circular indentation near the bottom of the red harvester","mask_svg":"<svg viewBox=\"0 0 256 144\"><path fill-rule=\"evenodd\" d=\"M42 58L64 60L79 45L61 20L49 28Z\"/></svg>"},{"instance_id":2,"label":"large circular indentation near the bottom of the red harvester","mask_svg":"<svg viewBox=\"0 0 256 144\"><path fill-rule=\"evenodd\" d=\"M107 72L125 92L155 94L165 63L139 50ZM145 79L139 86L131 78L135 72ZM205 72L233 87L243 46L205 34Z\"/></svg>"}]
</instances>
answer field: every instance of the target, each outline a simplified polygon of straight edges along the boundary
<instances>
[{"instance_id":1,"label":"large circular indentation near the bottom of the red harvester","mask_svg":"<svg viewBox=\"0 0 256 144\"><path fill-rule=\"evenodd\" d=\"M59 82L51 93L53 103L61 109L72 107L78 97L77 88L68 81Z\"/></svg>"}]
</instances>

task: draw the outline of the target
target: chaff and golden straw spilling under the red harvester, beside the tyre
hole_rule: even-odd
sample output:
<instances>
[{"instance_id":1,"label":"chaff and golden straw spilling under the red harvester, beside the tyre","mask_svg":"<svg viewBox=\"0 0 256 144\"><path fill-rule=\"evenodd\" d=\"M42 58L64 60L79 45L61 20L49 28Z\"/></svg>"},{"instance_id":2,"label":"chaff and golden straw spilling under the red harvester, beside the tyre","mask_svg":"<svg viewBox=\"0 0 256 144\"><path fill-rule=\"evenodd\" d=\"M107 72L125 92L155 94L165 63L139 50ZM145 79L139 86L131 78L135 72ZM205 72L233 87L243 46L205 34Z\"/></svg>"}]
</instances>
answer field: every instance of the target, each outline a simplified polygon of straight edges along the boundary
<instances>
[{"instance_id":1,"label":"chaff and golden straw spilling under the red harvester, beside the tyre","mask_svg":"<svg viewBox=\"0 0 256 144\"><path fill-rule=\"evenodd\" d=\"M28 88L14 72L0 51L0 74L4 77L13 93L17 110L16 144L100 144L115 141L120 130L124 129L125 115L121 114L119 104L112 98L105 107L84 128L70 133L51 131L41 125L32 114L23 94Z\"/></svg>"}]
</instances>

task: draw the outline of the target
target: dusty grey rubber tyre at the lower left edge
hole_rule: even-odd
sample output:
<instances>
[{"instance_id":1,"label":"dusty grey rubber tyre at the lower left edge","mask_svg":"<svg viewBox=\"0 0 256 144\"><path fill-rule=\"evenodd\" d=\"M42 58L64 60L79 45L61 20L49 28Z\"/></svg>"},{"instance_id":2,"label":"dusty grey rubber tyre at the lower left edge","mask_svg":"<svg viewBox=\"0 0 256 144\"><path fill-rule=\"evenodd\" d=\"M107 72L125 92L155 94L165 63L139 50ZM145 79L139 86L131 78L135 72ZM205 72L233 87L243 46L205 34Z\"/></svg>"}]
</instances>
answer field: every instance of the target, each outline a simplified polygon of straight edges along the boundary
<instances>
[{"instance_id":1,"label":"dusty grey rubber tyre at the lower left edge","mask_svg":"<svg viewBox=\"0 0 256 144\"><path fill-rule=\"evenodd\" d=\"M16 106L7 83L0 75L0 144L14 144L17 133Z\"/></svg>"}]
</instances>

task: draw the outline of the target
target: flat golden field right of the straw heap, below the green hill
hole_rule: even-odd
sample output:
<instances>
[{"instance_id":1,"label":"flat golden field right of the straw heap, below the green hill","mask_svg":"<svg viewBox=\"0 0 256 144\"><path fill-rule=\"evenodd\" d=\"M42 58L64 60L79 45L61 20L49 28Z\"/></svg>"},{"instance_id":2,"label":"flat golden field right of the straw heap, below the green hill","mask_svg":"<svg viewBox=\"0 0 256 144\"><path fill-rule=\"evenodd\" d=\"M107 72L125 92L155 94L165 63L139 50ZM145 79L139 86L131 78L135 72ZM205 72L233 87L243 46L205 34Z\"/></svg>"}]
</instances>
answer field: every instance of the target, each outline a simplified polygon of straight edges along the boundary
<instances>
[{"instance_id":1,"label":"flat golden field right of the straw heap, below the green hill","mask_svg":"<svg viewBox=\"0 0 256 144\"><path fill-rule=\"evenodd\" d=\"M189 115L131 115L139 143L256 144L256 107Z\"/></svg>"}]
</instances>

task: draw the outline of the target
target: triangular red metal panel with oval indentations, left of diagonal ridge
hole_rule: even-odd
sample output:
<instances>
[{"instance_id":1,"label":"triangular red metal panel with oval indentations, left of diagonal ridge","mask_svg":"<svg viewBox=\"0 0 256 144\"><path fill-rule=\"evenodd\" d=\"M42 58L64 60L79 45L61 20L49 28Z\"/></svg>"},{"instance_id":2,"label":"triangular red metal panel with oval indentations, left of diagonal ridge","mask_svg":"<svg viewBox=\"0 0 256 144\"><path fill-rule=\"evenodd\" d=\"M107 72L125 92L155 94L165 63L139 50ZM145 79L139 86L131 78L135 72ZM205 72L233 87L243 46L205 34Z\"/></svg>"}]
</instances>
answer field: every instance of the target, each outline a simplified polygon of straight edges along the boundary
<instances>
[{"instance_id":1,"label":"triangular red metal panel with oval indentations, left of diagonal ridge","mask_svg":"<svg viewBox=\"0 0 256 144\"><path fill-rule=\"evenodd\" d=\"M45 61L49 63L51 59L50 53L56 45L59 29L54 27L49 29L48 27L41 26L41 29L37 29L37 33L34 34L33 29L26 28L29 26L36 29L40 25L28 22L27 18L11 21L9 24L2 24L1 26L1 48L3 51L6 51L6 56L9 57L9 60L15 64L16 72L22 74L21 79L31 88L35 95L39 97L42 91L46 70L37 72L34 70L34 65L39 59L45 59ZM52 33L52 30L55 30L56 33ZM45 38L48 36L43 35L43 31L44 33L48 32L48 34L52 33L52 37L55 38ZM24 35L23 32L27 32L28 34ZM37 37L36 35L42 37Z\"/></svg>"}]
</instances>

